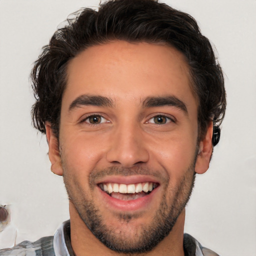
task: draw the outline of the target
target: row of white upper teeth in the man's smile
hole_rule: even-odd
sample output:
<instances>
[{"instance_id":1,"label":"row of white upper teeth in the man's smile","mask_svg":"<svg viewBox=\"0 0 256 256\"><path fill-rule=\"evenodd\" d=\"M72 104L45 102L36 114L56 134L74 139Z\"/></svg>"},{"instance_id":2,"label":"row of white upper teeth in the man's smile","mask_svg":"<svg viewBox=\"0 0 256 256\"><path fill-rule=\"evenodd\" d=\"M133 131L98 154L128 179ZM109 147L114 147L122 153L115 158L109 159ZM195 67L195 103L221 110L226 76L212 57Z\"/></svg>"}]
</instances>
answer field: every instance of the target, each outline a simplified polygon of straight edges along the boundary
<instances>
[{"instance_id":1,"label":"row of white upper teeth in the man's smile","mask_svg":"<svg viewBox=\"0 0 256 256\"><path fill-rule=\"evenodd\" d=\"M148 192L152 191L155 187L155 183L152 182L142 182L136 184L118 184L118 183L101 183L100 188L107 193L140 193L142 191Z\"/></svg>"}]
</instances>

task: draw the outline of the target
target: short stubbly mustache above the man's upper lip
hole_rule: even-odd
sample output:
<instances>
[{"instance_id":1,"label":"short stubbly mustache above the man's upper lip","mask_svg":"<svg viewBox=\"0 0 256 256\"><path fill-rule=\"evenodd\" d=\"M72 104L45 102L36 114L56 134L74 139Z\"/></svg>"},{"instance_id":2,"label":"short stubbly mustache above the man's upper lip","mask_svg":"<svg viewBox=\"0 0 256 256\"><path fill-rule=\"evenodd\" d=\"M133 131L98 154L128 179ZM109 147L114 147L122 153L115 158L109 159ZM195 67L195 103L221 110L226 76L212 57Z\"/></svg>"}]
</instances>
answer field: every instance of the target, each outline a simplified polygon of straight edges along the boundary
<instances>
[{"instance_id":1,"label":"short stubbly mustache above the man's upper lip","mask_svg":"<svg viewBox=\"0 0 256 256\"><path fill-rule=\"evenodd\" d=\"M110 166L103 169L94 169L89 174L89 185L93 187L95 182L102 177L111 176L111 175L120 175L120 176L131 176L131 175L151 175L160 180L161 183L168 182L169 178L167 173L162 170L153 170L149 168L142 168L142 167L117 167L117 166Z\"/></svg>"}]
</instances>

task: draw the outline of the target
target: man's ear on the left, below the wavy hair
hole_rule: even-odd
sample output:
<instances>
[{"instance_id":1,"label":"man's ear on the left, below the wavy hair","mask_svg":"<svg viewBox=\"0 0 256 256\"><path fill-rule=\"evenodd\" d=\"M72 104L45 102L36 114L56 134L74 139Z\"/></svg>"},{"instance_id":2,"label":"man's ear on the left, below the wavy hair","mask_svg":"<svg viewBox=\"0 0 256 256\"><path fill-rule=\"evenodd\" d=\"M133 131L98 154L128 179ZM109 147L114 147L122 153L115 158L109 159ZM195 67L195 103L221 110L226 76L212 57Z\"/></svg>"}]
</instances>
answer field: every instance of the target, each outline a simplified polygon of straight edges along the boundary
<instances>
[{"instance_id":1,"label":"man's ear on the left, below the wavy hair","mask_svg":"<svg viewBox=\"0 0 256 256\"><path fill-rule=\"evenodd\" d=\"M62 175L62 165L61 165L61 158L59 153L59 145L58 139L56 138L51 125L49 122L45 122L45 129L46 129L46 137L49 146L49 159L51 162L51 171L57 175Z\"/></svg>"}]
</instances>

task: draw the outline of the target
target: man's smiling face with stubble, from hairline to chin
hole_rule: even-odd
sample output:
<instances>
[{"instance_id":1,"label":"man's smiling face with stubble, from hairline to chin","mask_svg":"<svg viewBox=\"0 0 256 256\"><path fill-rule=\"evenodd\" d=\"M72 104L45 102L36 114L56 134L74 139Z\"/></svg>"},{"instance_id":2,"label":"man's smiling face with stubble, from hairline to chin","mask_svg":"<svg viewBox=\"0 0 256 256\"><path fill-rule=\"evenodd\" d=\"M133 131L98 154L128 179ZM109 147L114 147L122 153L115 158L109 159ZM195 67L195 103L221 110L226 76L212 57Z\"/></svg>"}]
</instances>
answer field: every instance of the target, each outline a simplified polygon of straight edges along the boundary
<instances>
[{"instance_id":1,"label":"man's smiling face with stubble, from hairline to chin","mask_svg":"<svg viewBox=\"0 0 256 256\"><path fill-rule=\"evenodd\" d=\"M189 198L198 127L188 73L177 50L142 42L91 46L68 64L55 172L112 249L150 250Z\"/></svg>"}]
</instances>

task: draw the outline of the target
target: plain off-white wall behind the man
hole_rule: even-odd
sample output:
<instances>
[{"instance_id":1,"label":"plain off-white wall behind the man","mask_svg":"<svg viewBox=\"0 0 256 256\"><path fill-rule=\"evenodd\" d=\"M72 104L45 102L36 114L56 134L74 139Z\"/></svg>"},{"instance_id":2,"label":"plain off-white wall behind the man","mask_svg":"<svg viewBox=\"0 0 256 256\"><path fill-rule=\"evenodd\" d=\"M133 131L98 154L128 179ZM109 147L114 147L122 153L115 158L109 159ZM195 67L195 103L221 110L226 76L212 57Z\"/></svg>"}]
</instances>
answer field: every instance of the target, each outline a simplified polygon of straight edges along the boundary
<instances>
[{"instance_id":1,"label":"plain off-white wall behind the man","mask_svg":"<svg viewBox=\"0 0 256 256\"><path fill-rule=\"evenodd\" d=\"M197 176L185 232L222 256L256 255L256 1L166 0L191 14L217 49L227 110L209 170ZM32 62L57 25L98 0L0 0L0 204L16 242L52 235L68 219L62 177L31 127Z\"/></svg>"}]
</instances>

